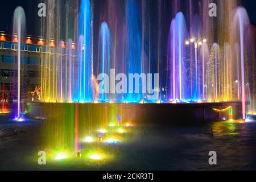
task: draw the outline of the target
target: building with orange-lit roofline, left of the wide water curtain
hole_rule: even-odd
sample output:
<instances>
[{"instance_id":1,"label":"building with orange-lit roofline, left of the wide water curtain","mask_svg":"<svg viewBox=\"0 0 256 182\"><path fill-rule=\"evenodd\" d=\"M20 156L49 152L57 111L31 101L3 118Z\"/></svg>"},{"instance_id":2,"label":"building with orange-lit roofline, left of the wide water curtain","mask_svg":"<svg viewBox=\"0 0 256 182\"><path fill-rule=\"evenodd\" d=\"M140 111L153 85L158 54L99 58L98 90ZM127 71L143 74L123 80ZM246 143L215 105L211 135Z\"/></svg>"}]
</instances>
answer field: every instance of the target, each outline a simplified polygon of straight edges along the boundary
<instances>
[{"instance_id":1,"label":"building with orange-lit roofline, left of the wide water curtain","mask_svg":"<svg viewBox=\"0 0 256 182\"><path fill-rule=\"evenodd\" d=\"M40 53L42 53L43 39L33 39L29 36L22 38L21 43L21 94L28 98L28 92L33 92L40 86ZM0 91L16 95L17 90L17 54L18 38L16 35L0 35Z\"/></svg>"}]
</instances>

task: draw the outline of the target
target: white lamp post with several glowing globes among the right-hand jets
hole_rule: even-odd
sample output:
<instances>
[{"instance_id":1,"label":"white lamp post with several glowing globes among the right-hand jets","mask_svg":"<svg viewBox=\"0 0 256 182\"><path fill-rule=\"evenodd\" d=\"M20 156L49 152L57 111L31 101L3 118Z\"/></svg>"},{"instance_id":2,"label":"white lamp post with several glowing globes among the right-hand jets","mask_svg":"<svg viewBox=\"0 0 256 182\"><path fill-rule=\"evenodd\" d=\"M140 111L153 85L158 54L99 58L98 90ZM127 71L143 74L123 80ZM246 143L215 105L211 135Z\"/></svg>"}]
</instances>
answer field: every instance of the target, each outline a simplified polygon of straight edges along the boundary
<instances>
[{"instance_id":1,"label":"white lamp post with several glowing globes among the right-hand jets","mask_svg":"<svg viewBox=\"0 0 256 182\"><path fill-rule=\"evenodd\" d=\"M185 44L189 45L190 43L194 44L195 47L195 64L196 64L196 97L197 97L197 47L201 46L203 43L206 43L207 39L201 39L201 38L191 38L189 40L186 40ZM203 71L204 72L204 71ZM203 74L204 77L204 74ZM204 85L204 81L203 81L203 85ZM204 92L204 89L203 89ZM204 93L203 93L204 96Z\"/></svg>"}]
</instances>

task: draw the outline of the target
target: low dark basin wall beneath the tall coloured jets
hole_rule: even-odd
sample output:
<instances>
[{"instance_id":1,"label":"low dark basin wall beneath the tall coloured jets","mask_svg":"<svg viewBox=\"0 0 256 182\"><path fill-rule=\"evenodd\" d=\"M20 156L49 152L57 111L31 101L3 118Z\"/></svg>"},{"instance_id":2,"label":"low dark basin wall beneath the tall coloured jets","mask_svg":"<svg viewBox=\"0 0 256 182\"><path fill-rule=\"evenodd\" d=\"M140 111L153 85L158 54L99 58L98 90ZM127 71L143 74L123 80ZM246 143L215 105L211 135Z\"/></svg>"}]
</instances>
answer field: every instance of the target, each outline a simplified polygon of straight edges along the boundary
<instances>
[{"instance_id":1,"label":"low dark basin wall beneath the tall coloured jets","mask_svg":"<svg viewBox=\"0 0 256 182\"><path fill-rule=\"evenodd\" d=\"M232 108L232 115L228 107ZM117 120L135 123L184 123L221 121L222 118L242 118L241 102L212 102L193 104L79 104L27 102L27 117L56 119L64 113L71 113L76 107L79 119L88 123L108 123Z\"/></svg>"}]
</instances>

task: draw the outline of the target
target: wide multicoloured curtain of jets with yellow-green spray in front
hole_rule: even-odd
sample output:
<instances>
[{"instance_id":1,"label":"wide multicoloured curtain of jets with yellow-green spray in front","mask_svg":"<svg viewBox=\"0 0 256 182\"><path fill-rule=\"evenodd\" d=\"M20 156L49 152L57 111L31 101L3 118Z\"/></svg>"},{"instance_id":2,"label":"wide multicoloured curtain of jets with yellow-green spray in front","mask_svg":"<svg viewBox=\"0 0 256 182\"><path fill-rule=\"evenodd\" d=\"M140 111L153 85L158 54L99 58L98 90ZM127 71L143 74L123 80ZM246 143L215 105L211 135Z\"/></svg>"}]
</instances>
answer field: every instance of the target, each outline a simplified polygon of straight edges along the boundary
<instances>
[{"instance_id":1,"label":"wide multicoloured curtain of jets with yellow-green spray in front","mask_svg":"<svg viewBox=\"0 0 256 182\"><path fill-rule=\"evenodd\" d=\"M200 120L205 110L197 107L218 115L222 107L232 110L230 105L240 106L241 99L243 118L246 117L246 94L253 92L245 71L249 60L245 46L248 42L245 10L241 7L235 10L230 22L224 15L232 18L231 8L227 12L221 9L221 18L216 19L221 26L225 24L225 32L234 24L232 39L222 32L215 35L208 11L193 16L196 10L192 1L188 4L188 14L183 14L180 3L174 1L175 10L173 14L168 11L170 17L166 19L164 11L170 7L165 10L162 2L126 0L106 4L97 16L100 5L94 1L82 0L75 7L70 1L47 3L48 18L43 23L47 28L42 33L46 40L41 48L48 53L41 55L42 103L38 104L40 114L46 118L46 146L72 151L75 148L80 155L81 141L93 143L95 131L101 131L98 138L102 139L109 125L110 130L114 130L113 123L117 121L121 125L136 118L137 121L161 120L166 113L175 120L184 113L184 108L188 115L199 115L195 120ZM151 7L159 11L156 18L150 14ZM202 19L207 21L201 26ZM203 35L207 42L201 42L195 54L194 47L187 46L185 40L188 36L203 38ZM125 75L159 73L160 88L151 86L155 86L161 100L149 100L148 95L141 92L142 79L140 93L112 92L107 78L113 69ZM129 85L127 90L134 87ZM110 89L109 94L102 92L105 89ZM28 104L28 110L33 110L34 105ZM145 113L150 117L144 117ZM157 117L152 113L157 113ZM144 118L140 114L144 114ZM237 110L233 109L230 118L238 117ZM122 132L119 130L119 134Z\"/></svg>"}]
</instances>

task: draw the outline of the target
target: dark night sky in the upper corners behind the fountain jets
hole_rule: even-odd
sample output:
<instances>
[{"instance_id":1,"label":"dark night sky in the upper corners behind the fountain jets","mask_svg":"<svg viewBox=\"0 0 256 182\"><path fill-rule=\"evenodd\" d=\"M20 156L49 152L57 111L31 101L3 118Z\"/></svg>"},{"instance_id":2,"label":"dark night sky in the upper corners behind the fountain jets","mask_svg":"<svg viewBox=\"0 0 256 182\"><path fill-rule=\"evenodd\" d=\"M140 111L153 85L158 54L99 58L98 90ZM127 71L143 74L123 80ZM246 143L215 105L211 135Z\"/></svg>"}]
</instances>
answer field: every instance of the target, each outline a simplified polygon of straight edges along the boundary
<instances>
[{"instance_id":1,"label":"dark night sky in the upper corners behind the fountain jets","mask_svg":"<svg viewBox=\"0 0 256 182\"><path fill-rule=\"evenodd\" d=\"M26 22L27 22L27 34L37 35L39 34L39 28L37 27L39 22L39 17L37 16L38 3L41 0L0 0L1 11L0 11L0 31L12 31L12 22L13 22L13 12L17 6L22 6L26 13ZM62 0L64 1L64 0ZM104 0L102 0L104 1ZM171 1L171 0L170 0ZM230 0L224 0L230 1ZM251 23L256 24L256 1L255 0L241 0L242 6L245 6ZM35 26L37 25L37 26Z\"/></svg>"}]
</instances>

